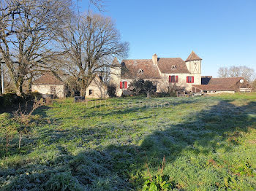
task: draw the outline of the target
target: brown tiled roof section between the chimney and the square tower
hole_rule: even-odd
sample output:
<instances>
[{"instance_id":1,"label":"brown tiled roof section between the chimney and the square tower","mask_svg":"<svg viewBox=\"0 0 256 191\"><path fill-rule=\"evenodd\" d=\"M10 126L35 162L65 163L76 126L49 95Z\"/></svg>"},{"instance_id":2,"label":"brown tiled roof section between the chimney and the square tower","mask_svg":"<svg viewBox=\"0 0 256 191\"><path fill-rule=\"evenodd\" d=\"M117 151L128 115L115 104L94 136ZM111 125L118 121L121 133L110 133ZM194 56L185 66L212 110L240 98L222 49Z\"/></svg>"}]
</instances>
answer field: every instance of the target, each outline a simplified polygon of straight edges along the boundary
<instances>
[{"instance_id":1,"label":"brown tiled roof section between the chimney and the square tower","mask_svg":"<svg viewBox=\"0 0 256 191\"><path fill-rule=\"evenodd\" d=\"M165 74L189 74L186 63L181 58L158 58L157 65L159 70ZM175 66L176 69L172 69L173 66Z\"/></svg>"}]
</instances>

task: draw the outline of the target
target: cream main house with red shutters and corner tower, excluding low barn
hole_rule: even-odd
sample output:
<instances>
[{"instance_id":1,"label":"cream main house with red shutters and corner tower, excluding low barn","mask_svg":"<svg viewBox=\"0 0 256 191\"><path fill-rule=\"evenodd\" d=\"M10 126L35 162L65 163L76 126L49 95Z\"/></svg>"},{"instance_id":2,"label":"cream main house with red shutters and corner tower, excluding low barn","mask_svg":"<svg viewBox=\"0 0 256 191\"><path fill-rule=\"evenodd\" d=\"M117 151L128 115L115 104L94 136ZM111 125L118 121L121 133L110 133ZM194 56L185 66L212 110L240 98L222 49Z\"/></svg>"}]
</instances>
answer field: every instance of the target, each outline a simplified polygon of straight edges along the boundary
<instances>
[{"instance_id":1,"label":"cream main house with red shutters and corner tower, excluding low barn","mask_svg":"<svg viewBox=\"0 0 256 191\"><path fill-rule=\"evenodd\" d=\"M157 85L157 92L167 91L170 86L176 85L185 91L192 91L192 85L201 85L202 59L191 52L186 61L181 58L158 58L124 60L114 64L120 67L111 69L110 82L117 86L116 94L128 93L127 88L134 79L150 80Z\"/></svg>"}]
</instances>

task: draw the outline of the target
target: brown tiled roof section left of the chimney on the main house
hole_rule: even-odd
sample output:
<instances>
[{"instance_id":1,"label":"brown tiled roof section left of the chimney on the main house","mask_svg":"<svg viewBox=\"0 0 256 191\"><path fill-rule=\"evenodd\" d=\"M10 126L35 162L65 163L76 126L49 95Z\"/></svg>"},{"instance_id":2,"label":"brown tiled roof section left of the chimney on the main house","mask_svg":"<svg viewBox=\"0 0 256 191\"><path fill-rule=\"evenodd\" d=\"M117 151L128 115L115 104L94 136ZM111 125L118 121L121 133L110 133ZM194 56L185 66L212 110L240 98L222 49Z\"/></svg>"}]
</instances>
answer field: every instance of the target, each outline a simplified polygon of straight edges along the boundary
<instances>
[{"instance_id":1,"label":"brown tiled roof section left of the chimney on the main house","mask_svg":"<svg viewBox=\"0 0 256 191\"><path fill-rule=\"evenodd\" d=\"M141 71L142 70L142 71ZM138 71L141 71L140 73ZM151 59L125 60L121 62L121 78L160 79L157 66Z\"/></svg>"}]
</instances>

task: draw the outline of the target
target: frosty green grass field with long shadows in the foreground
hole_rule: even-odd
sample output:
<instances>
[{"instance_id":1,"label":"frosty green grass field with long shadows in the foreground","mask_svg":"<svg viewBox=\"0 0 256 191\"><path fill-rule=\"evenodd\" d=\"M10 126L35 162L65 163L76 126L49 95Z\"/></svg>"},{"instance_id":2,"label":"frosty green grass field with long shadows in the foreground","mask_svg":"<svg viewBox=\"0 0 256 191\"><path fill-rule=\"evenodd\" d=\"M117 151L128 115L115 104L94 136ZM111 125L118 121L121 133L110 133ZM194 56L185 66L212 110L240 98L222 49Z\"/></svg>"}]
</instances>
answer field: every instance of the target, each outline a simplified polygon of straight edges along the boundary
<instances>
[{"instance_id":1,"label":"frosty green grass field with long shadows in the foreground","mask_svg":"<svg viewBox=\"0 0 256 191\"><path fill-rule=\"evenodd\" d=\"M34 115L20 150L1 139L1 190L256 190L255 93L67 98Z\"/></svg>"}]
</instances>

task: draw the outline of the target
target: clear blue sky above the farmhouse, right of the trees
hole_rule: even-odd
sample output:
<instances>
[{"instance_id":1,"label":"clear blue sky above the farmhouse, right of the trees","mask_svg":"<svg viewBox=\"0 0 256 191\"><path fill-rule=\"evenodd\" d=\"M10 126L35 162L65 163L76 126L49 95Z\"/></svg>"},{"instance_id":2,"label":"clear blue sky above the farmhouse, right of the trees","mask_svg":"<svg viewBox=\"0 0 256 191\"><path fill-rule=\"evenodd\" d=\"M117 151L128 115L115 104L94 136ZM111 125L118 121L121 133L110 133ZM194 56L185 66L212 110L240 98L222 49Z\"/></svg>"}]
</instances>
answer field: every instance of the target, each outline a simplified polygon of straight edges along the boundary
<instances>
[{"instance_id":1,"label":"clear blue sky above the farmhouse, right of the trees","mask_svg":"<svg viewBox=\"0 0 256 191\"><path fill-rule=\"evenodd\" d=\"M217 77L220 66L249 66L256 71L255 0L105 0L121 38L129 42L129 59L186 59L194 50L202 75ZM88 1L80 2L80 11ZM97 12L97 10L94 10Z\"/></svg>"}]
</instances>

